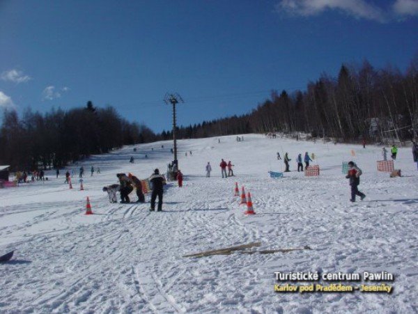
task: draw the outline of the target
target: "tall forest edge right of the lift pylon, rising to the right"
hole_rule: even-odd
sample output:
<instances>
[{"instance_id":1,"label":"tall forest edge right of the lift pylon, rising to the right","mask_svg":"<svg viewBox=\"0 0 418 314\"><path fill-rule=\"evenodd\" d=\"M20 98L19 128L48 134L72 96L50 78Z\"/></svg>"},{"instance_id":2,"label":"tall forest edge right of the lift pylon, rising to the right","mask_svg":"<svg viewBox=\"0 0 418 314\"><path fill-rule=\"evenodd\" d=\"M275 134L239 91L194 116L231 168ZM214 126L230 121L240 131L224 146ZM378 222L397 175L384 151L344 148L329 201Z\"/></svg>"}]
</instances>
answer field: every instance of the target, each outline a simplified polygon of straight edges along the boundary
<instances>
[{"instance_id":1,"label":"tall forest edge right of the lift pylon, rising to the right","mask_svg":"<svg viewBox=\"0 0 418 314\"><path fill-rule=\"evenodd\" d=\"M418 54L405 73L368 62L341 65L338 77L322 74L306 91L272 91L251 113L179 127L178 138L242 133L299 132L335 141L392 143L417 138ZM170 139L172 132L158 134Z\"/></svg>"}]
</instances>

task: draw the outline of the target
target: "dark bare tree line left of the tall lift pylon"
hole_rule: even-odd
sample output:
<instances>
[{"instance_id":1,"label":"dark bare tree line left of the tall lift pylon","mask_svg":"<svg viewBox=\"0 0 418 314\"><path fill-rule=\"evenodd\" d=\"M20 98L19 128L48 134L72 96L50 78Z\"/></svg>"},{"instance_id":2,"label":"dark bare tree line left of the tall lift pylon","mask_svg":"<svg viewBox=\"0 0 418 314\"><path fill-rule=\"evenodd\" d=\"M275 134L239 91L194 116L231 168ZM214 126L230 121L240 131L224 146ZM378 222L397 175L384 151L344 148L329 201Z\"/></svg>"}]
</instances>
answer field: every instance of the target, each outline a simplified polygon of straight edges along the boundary
<instances>
[{"instance_id":1,"label":"dark bare tree line left of the tall lift pylon","mask_svg":"<svg viewBox=\"0 0 418 314\"><path fill-rule=\"evenodd\" d=\"M13 170L61 167L123 145L155 141L145 125L121 118L113 107L52 109L40 114L27 109L22 118L5 110L0 128L0 164Z\"/></svg>"}]
</instances>

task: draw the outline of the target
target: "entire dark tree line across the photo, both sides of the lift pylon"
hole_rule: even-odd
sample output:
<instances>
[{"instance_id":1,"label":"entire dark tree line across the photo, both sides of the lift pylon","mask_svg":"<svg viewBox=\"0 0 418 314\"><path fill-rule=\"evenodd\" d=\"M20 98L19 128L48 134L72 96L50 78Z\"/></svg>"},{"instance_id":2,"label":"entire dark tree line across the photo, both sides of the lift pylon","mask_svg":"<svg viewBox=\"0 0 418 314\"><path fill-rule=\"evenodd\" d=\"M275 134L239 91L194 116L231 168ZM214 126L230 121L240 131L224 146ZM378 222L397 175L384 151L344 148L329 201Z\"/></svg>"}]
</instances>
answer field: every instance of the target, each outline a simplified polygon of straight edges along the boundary
<instances>
[{"instance_id":1,"label":"entire dark tree line across the photo, both sides of the lift pylon","mask_svg":"<svg viewBox=\"0 0 418 314\"><path fill-rule=\"evenodd\" d=\"M305 91L272 91L256 109L178 127L178 139L243 133L300 132L334 141L401 143L417 139L418 54L402 73L368 62L341 65L338 77L320 75ZM40 114L27 109L22 118L5 110L0 128L0 164L14 170L61 167L92 154L123 145L168 140L173 132L155 134L146 125L130 123L113 107L54 110Z\"/></svg>"}]
</instances>

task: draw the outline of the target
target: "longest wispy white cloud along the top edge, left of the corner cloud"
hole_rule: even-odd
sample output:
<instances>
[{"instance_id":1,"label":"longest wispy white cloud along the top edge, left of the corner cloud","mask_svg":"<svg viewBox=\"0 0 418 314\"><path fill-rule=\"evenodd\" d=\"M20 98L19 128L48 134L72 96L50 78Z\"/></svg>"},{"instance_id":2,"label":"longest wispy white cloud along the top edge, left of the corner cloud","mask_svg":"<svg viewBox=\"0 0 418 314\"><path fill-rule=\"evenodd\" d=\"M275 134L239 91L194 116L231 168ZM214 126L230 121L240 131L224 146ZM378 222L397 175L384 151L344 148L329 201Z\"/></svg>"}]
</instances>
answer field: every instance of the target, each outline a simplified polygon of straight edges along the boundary
<instances>
[{"instance_id":1,"label":"longest wispy white cloud along the top edge, left of the corner cloud","mask_svg":"<svg viewBox=\"0 0 418 314\"><path fill-rule=\"evenodd\" d=\"M364 0L281 0L276 5L279 12L292 15L311 16L325 10L339 10L357 19L385 22L385 12Z\"/></svg>"}]
</instances>

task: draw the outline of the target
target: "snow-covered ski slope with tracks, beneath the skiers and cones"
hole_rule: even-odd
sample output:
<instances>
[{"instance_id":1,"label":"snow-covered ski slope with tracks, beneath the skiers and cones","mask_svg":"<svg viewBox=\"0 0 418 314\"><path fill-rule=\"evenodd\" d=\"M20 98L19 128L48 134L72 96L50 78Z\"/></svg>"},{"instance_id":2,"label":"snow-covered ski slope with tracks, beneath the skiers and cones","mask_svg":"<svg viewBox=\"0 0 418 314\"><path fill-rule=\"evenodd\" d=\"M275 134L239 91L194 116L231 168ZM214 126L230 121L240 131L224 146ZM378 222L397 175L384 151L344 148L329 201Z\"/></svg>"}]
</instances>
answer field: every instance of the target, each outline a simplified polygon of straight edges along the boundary
<instances>
[{"instance_id":1,"label":"snow-covered ski slope with tracks, beneath the skiers and cones","mask_svg":"<svg viewBox=\"0 0 418 314\"><path fill-rule=\"evenodd\" d=\"M13 260L0 264L0 313L418 311L418 171L410 148L399 150L395 164L403 178L389 178L376 171L376 146L254 134L242 142L219 139L178 141L185 181L181 189L169 183L161 213L149 212L149 202L110 204L102 187L116 183L119 172L146 178L154 168L165 170L171 141L91 157L81 163L84 191L78 166L74 189L63 184L62 170L59 179L51 171L48 181L0 189L0 255L17 250ZM284 170L277 151L293 159L283 179L268 175ZM305 151L316 155L317 178L295 171L295 157ZM220 178L221 158L235 164L234 178ZM351 159L363 170L359 189L367 195L357 203L349 202L341 173L341 162ZM205 178L207 162L211 178ZM91 165L101 173L90 177ZM233 197L235 182L251 192L256 215L243 214ZM86 196L94 215L84 215ZM137 200L134 193L131 200ZM250 242L261 242L257 249L311 250L183 257ZM274 272L309 271L393 272L394 292L274 292Z\"/></svg>"}]
</instances>

